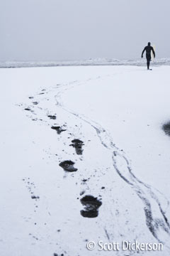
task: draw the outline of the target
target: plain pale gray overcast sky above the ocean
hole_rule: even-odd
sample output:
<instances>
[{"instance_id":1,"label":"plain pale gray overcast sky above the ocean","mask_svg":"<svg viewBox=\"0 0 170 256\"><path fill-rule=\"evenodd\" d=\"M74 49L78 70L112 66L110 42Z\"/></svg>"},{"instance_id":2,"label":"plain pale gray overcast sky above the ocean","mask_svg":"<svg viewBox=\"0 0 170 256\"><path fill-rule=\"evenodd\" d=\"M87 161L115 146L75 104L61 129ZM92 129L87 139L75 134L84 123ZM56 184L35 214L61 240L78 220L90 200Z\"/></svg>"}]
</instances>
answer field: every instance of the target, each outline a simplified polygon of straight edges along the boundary
<instances>
[{"instance_id":1,"label":"plain pale gray overcast sky above the ocean","mask_svg":"<svg viewBox=\"0 0 170 256\"><path fill-rule=\"evenodd\" d=\"M0 61L170 57L169 0L1 0Z\"/></svg>"}]
</instances>

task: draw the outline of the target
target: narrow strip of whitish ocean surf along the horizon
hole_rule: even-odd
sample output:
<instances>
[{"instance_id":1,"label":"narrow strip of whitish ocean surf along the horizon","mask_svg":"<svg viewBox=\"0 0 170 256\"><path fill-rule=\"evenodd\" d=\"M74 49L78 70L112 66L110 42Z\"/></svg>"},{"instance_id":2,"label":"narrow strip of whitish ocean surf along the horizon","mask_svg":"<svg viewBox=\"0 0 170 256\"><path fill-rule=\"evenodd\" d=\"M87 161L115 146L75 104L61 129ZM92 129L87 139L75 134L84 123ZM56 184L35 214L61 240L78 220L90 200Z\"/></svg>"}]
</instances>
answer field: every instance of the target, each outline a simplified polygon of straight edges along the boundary
<instances>
[{"instance_id":1,"label":"narrow strip of whitish ocean surf along the horizon","mask_svg":"<svg viewBox=\"0 0 170 256\"><path fill-rule=\"evenodd\" d=\"M151 62L154 66L170 65L170 58L155 59ZM6 61L0 62L0 68L28 68L28 67L55 67L55 66L79 66L79 65L137 65L145 66L146 59L116 60L108 58L96 58L89 60L61 60L61 61Z\"/></svg>"}]
</instances>

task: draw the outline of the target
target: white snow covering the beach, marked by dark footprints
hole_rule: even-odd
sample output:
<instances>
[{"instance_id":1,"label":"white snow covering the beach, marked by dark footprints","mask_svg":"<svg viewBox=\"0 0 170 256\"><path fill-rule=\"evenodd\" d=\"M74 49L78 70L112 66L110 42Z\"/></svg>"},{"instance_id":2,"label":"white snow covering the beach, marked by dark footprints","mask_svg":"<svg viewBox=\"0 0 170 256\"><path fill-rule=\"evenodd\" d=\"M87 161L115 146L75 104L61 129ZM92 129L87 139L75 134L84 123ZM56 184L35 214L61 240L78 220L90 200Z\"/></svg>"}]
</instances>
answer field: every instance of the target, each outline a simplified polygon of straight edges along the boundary
<instances>
[{"instance_id":1,"label":"white snow covering the beach, marked by dark footprints","mask_svg":"<svg viewBox=\"0 0 170 256\"><path fill-rule=\"evenodd\" d=\"M169 255L169 72L1 68L1 256ZM82 155L73 139L84 142ZM64 171L66 160L78 170ZM86 195L102 202L97 218L80 213ZM164 250L88 251L91 240Z\"/></svg>"}]
</instances>

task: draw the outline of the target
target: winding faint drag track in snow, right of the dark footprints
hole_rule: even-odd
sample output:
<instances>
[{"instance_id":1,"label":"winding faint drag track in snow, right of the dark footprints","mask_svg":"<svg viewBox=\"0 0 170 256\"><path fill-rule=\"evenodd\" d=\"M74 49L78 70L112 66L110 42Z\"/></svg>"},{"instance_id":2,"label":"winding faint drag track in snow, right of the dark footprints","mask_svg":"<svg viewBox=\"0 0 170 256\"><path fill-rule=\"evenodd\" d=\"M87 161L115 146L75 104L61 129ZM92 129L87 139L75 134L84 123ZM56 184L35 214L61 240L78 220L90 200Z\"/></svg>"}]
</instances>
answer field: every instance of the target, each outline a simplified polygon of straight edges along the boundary
<instances>
[{"instance_id":1,"label":"winding faint drag track in snow, right of the dark footprints","mask_svg":"<svg viewBox=\"0 0 170 256\"><path fill-rule=\"evenodd\" d=\"M87 81L89 80L86 80L86 82ZM166 210L163 210L162 204L160 203L160 200L159 200L159 196L162 196L163 198L163 195L156 189L151 188L145 183L142 183L142 181L137 179L135 175L132 174L130 164L128 162L128 159L126 159L124 152L120 151L120 149L118 149L118 147L116 147L115 144L113 144L113 140L111 139L108 132L106 132L106 130L103 129L103 127L101 127L99 124L96 124L96 122L88 119L87 117L84 117L83 115L72 112L71 110L67 110L67 108L65 108L64 105L62 104L62 101L61 101L62 93L74 87L76 82L77 81L74 81L67 85L57 86L57 89L62 89L62 90L59 90L59 92L57 92L57 95L55 95L57 106L61 107L63 110L71 114L74 114L74 116L90 124L91 127L93 127L96 130L96 133L98 134L98 137L101 140L101 144L103 144L103 146L105 146L113 154L113 166L115 167L115 170L118 172L119 176L123 178L123 180L126 181L135 190L135 192L137 193L137 196L139 196L142 202L144 203L147 227L149 228L152 235L154 235L154 237L157 238L157 240L162 241L162 239L159 239L157 235L159 228L169 234L169 221L165 215ZM81 84L84 84L84 82L81 82L81 83L77 82L77 85L81 85ZM118 160L118 158L120 159ZM119 167L119 161L120 161L120 167ZM159 193L159 196L157 196L157 193ZM167 207L168 206L169 206L169 201L167 201ZM153 218L153 214L157 215L158 212L161 213L161 218Z\"/></svg>"}]
</instances>

